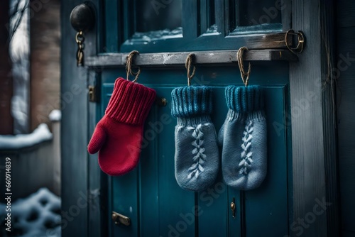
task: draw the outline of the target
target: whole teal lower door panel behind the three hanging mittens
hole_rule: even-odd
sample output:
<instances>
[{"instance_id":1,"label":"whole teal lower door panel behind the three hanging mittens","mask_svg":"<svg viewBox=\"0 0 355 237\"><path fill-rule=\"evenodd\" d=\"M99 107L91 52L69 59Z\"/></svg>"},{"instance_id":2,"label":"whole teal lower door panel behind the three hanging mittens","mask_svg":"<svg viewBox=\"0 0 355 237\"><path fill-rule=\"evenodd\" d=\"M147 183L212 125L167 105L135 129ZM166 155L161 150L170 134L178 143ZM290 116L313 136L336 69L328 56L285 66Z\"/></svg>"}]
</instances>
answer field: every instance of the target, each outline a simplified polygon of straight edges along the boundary
<instances>
[{"instance_id":1,"label":"whole teal lower door panel behind the three hanging mittens","mask_svg":"<svg viewBox=\"0 0 355 237\"><path fill-rule=\"evenodd\" d=\"M261 187L247 192L227 187L219 177L203 192L181 189L174 175L174 131L170 93L187 81L185 70L143 69L138 83L156 90L166 106L153 104L146 120L138 167L122 177L109 177L111 211L131 218L131 226L110 223L111 236L280 236L288 233L288 65L253 65L251 84L265 88L268 126L268 174ZM102 115L111 96L114 79L124 70L102 72ZM212 121L219 131L227 108L224 88L241 85L235 67L197 67L192 84L213 87ZM275 126L277 125L277 126ZM283 126L280 128L280 126ZM277 129L276 129L277 128ZM220 151L222 148L219 149ZM230 204L234 199L236 215Z\"/></svg>"}]
</instances>

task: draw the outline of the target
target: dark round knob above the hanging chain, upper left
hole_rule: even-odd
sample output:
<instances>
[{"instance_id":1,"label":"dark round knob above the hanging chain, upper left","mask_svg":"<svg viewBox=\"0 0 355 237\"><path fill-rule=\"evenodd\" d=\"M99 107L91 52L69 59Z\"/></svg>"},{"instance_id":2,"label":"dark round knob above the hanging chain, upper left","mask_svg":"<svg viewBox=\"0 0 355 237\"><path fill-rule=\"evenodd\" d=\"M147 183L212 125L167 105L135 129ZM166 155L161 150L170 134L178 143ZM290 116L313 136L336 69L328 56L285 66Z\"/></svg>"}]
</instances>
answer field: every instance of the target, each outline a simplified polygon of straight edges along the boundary
<instances>
[{"instance_id":1,"label":"dark round knob above the hanging chain, upper left","mask_svg":"<svg viewBox=\"0 0 355 237\"><path fill-rule=\"evenodd\" d=\"M89 31L94 26L94 11L87 4L75 6L70 13L70 23L75 31Z\"/></svg>"}]
</instances>

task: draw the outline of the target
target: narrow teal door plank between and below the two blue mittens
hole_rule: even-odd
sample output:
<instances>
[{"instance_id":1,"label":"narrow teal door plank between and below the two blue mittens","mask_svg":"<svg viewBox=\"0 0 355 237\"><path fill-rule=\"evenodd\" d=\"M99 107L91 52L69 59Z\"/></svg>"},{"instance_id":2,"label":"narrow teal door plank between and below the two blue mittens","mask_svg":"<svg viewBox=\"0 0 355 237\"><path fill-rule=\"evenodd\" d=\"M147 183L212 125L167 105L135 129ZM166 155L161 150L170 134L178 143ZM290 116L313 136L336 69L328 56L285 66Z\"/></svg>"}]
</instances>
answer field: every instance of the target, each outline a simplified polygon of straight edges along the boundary
<instances>
[{"instance_id":1,"label":"narrow teal door plank between and below the two blue mittens","mask_svg":"<svg viewBox=\"0 0 355 237\"><path fill-rule=\"evenodd\" d=\"M220 70L219 70L220 71ZM212 79L213 75L217 74L216 70L207 70L202 75L197 75L198 81L202 81L205 84L216 83L218 85L213 86L213 112L212 122L216 128L216 132L219 132L222 123L226 116L226 100L224 99L224 87L218 82L221 77ZM182 79L183 80L183 79ZM222 158L222 148L219 147L219 158ZM236 208L235 219L230 218L230 204L232 199L229 198L229 188L224 184L222 179L222 170L219 168L219 175L207 190L199 192L197 202L201 206L201 214L198 219L199 236L228 236L229 235L229 219L233 223L234 233L240 233L240 211ZM239 193L236 191L236 193ZM236 199L236 206L238 206L239 199ZM207 228L209 226L209 228Z\"/></svg>"}]
</instances>

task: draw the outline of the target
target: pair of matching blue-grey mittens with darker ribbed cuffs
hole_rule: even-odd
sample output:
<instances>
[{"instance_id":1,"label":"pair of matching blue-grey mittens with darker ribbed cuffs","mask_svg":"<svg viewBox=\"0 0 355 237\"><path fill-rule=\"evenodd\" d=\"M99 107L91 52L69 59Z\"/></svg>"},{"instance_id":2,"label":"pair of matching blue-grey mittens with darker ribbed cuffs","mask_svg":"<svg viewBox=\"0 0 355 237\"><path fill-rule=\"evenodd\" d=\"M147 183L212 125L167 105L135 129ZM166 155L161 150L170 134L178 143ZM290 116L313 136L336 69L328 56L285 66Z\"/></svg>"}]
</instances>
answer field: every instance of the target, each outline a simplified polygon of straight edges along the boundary
<instances>
[{"instance_id":1,"label":"pair of matching blue-grey mittens with darker ribbed cuffs","mask_svg":"<svg viewBox=\"0 0 355 237\"><path fill-rule=\"evenodd\" d=\"M212 87L173 89L175 178L180 187L202 191L219 171L218 143L222 145L222 175L230 187L249 190L266 177L266 119L261 87L225 89L228 113L218 140L211 121Z\"/></svg>"}]
</instances>

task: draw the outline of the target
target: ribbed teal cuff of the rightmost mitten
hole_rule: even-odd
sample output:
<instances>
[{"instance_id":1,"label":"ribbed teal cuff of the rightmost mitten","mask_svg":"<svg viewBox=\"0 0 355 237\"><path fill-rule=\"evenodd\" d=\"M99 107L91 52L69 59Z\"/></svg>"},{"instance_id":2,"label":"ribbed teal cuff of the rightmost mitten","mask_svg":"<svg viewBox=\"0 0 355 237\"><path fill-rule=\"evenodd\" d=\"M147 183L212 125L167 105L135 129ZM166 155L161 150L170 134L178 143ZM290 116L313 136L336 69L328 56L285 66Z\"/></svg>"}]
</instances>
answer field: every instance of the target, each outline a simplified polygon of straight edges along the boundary
<instances>
[{"instance_id":1,"label":"ribbed teal cuff of the rightmost mitten","mask_svg":"<svg viewBox=\"0 0 355 237\"><path fill-rule=\"evenodd\" d=\"M250 113L264 108L263 90L259 86L226 87L226 105L239 113Z\"/></svg>"}]
</instances>

